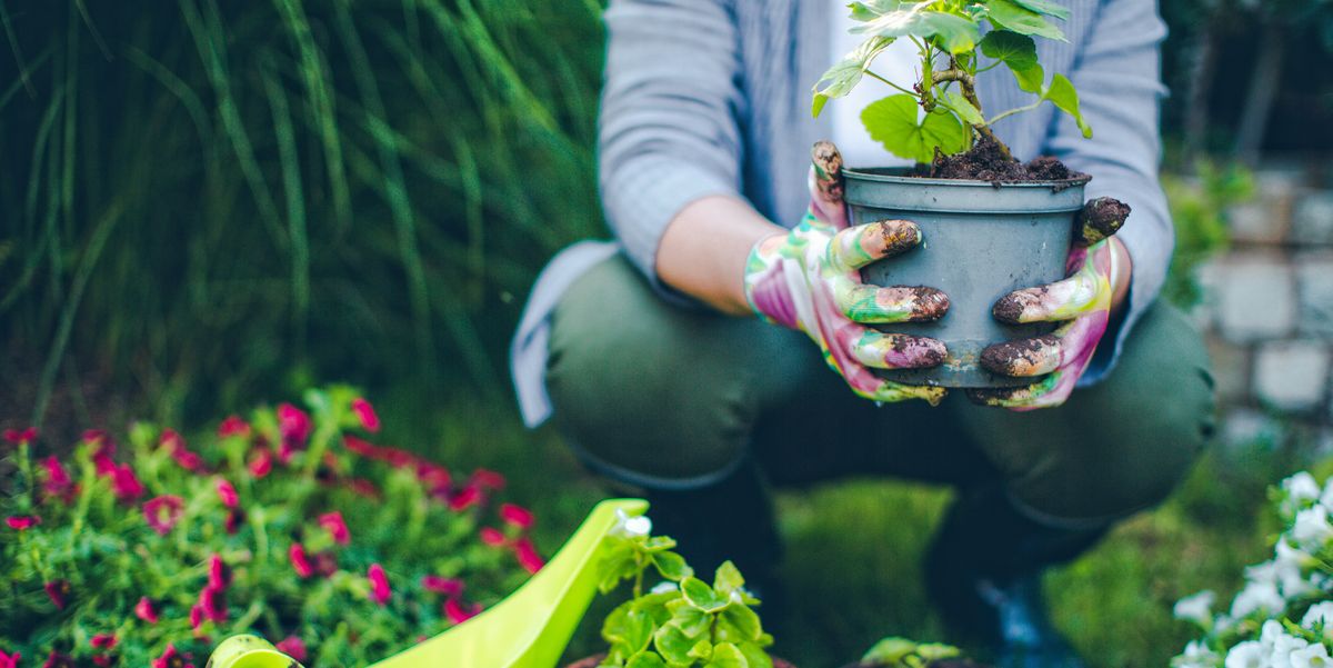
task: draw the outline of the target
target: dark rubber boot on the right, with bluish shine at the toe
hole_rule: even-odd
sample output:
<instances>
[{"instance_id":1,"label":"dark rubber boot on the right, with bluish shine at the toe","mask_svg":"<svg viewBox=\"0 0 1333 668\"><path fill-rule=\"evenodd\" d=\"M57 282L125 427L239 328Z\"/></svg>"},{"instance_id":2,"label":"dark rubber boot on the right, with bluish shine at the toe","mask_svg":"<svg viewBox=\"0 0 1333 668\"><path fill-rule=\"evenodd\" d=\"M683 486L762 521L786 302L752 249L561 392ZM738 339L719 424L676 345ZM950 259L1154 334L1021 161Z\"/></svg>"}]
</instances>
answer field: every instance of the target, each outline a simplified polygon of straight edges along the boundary
<instances>
[{"instance_id":1,"label":"dark rubber boot on the right, with bluish shine at the toe","mask_svg":"<svg viewBox=\"0 0 1333 668\"><path fill-rule=\"evenodd\" d=\"M998 488L960 493L926 553L926 588L948 627L986 647L1001 668L1081 668L1050 624L1041 572L1105 533L1034 521Z\"/></svg>"}]
</instances>

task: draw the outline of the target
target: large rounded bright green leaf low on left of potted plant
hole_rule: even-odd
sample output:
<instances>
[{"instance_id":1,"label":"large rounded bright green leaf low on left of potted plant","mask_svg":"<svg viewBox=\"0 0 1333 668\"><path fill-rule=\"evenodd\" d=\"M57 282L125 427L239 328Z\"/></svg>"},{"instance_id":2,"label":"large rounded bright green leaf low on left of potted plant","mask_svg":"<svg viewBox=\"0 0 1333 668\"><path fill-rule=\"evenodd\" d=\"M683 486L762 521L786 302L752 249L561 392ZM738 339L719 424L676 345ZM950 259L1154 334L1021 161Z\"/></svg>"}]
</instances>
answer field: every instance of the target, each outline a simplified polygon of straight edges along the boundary
<instances>
[{"instance_id":1,"label":"large rounded bright green leaf low on left of potted plant","mask_svg":"<svg viewBox=\"0 0 1333 668\"><path fill-rule=\"evenodd\" d=\"M933 160L936 147L945 155L964 149L968 129L957 116L937 108L918 120L917 109L916 97L892 95L868 104L861 111L861 123L890 153L917 163Z\"/></svg>"}]
</instances>

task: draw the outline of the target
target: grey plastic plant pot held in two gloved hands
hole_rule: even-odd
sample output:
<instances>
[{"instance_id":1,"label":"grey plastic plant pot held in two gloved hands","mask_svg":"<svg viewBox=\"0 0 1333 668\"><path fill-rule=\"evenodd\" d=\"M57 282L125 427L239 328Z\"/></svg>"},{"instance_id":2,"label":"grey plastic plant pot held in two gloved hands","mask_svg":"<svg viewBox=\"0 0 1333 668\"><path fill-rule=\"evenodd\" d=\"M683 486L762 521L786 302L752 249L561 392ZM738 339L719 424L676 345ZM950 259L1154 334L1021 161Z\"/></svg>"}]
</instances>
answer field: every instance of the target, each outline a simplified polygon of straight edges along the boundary
<instances>
[{"instance_id":1,"label":"grey plastic plant pot held in two gloved hands","mask_svg":"<svg viewBox=\"0 0 1333 668\"><path fill-rule=\"evenodd\" d=\"M930 336L949 349L930 369L881 371L882 377L916 385L1000 388L1032 379L998 376L981 368L993 343L1038 336L1050 324L1009 325L990 315L1004 295L1057 281L1084 205L1089 179L992 184L920 179L906 169L842 169L852 224L902 219L921 228L921 247L861 271L876 285L929 285L949 295L949 312L934 323L884 325L886 332Z\"/></svg>"}]
</instances>

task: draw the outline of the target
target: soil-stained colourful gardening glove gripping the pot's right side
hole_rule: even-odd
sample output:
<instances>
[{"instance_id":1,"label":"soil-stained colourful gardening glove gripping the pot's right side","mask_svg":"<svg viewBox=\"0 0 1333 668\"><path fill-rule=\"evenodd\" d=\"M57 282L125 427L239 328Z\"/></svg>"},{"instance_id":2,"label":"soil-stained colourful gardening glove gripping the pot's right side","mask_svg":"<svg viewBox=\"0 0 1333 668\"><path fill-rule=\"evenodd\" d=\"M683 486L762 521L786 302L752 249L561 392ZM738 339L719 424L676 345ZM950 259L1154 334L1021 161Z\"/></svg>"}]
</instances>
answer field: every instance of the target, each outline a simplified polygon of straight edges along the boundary
<instances>
[{"instance_id":1,"label":"soil-stained colourful gardening glove gripping the pot's right side","mask_svg":"<svg viewBox=\"0 0 1333 668\"><path fill-rule=\"evenodd\" d=\"M1038 383L1005 389L969 389L977 403L1014 411L1065 403L1088 369L1097 343L1110 321L1110 301L1120 279L1110 236L1125 224L1129 205L1098 197L1078 212L1074 247L1065 263L1068 279L1010 292L994 303L1001 323L1061 323L1054 332L1004 341L981 352L981 365L993 373L1032 377Z\"/></svg>"}]
</instances>

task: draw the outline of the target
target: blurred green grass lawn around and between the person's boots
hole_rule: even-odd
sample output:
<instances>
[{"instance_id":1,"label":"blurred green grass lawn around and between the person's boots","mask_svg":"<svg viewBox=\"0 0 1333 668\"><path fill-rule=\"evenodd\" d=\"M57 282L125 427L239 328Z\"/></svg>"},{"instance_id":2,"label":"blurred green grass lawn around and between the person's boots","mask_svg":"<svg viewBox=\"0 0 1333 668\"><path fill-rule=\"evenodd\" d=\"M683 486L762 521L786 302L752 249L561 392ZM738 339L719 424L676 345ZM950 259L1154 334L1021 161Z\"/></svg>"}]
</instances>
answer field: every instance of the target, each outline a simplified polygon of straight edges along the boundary
<instances>
[{"instance_id":1,"label":"blurred green grass lawn around and between the person's boots","mask_svg":"<svg viewBox=\"0 0 1333 668\"><path fill-rule=\"evenodd\" d=\"M411 404L412 397L380 401L387 437L429 443L424 449L456 468L503 471L512 496L537 509L537 539L548 553L603 495L552 429L525 431L507 403ZM397 428L403 424L415 424L417 433ZM1226 597L1241 567L1265 559L1265 536L1276 527L1260 509L1266 487L1292 468L1290 460L1260 447L1209 453L1168 504L1050 573L1058 624L1093 665L1166 665L1189 639L1188 625L1170 617L1174 600L1201 588ZM886 480L784 493L785 569L790 599L800 603L789 611L777 652L802 668L822 668L854 659L884 635L948 640L918 577L921 549L946 500L946 489ZM608 603L595 604L571 655L597 647L597 611Z\"/></svg>"}]
</instances>

